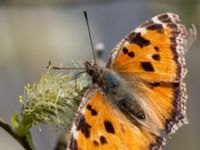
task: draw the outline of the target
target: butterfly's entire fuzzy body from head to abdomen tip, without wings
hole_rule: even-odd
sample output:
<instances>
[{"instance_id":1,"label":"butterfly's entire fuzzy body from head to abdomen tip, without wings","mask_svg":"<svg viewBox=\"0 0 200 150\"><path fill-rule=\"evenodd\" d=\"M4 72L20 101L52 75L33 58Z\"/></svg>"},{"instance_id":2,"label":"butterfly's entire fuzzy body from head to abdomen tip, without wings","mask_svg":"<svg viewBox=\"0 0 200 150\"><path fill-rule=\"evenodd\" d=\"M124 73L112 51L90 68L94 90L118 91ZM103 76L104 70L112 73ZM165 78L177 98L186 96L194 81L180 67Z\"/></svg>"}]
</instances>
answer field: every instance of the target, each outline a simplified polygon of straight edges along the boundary
<instances>
[{"instance_id":1,"label":"butterfly's entire fuzzy body from head to abdomen tip, without wings","mask_svg":"<svg viewBox=\"0 0 200 150\"><path fill-rule=\"evenodd\" d=\"M133 92L129 90L128 82L109 68L99 67L97 64L91 64L87 61L85 62L85 67L93 80L93 84L97 84L106 93L113 105L119 107L122 112L125 111L126 115L129 114L129 118L145 118L144 112L137 103Z\"/></svg>"}]
</instances>

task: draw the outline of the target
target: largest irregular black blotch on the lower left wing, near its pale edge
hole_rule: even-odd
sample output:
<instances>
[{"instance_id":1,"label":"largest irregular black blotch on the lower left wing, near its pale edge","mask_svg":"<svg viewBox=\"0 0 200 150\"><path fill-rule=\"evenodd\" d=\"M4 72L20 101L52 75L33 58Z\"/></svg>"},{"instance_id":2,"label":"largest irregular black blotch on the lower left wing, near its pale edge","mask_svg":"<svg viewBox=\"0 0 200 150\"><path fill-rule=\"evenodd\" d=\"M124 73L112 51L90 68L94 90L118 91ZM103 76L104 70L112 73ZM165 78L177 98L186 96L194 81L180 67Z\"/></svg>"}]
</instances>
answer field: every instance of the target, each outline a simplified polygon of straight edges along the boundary
<instances>
[{"instance_id":1,"label":"largest irregular black blotch on the lower left wing, near its pale edge","mask_svg":"<svg viewBox=\"0 0 200 150\"><path fill-rule=\"evenodd\" d=\"M81 130L81 132L85 135L86 138L90 137L90 128L91 126L85 121L85 117L82 115L80 121L77 125L77 130Z\"/></svg>"}]
</instances>

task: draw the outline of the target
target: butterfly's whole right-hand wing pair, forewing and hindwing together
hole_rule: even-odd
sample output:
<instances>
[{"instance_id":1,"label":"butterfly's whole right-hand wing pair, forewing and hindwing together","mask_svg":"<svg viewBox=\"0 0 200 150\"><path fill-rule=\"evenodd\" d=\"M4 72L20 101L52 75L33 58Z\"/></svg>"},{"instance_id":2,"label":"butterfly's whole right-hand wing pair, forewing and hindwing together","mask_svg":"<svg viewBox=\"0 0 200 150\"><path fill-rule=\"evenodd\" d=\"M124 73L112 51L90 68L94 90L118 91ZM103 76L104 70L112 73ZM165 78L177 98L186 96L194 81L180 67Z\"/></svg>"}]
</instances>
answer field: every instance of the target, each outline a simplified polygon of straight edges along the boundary
<instances>
[{"instance_id":1,"label":"butterfly's whole right-hand wing pair, forewing and hindwing together","mask_svg":"<svg viewBox=\"0 0 200 150\"><path fill-rule=\"evenodd\" d=\"M188 31L179 17L165 13L132 31L112 51L107 64L127 81L151 122L174 133L187 123L184 42Z\"/></svg>"}]
</instances>

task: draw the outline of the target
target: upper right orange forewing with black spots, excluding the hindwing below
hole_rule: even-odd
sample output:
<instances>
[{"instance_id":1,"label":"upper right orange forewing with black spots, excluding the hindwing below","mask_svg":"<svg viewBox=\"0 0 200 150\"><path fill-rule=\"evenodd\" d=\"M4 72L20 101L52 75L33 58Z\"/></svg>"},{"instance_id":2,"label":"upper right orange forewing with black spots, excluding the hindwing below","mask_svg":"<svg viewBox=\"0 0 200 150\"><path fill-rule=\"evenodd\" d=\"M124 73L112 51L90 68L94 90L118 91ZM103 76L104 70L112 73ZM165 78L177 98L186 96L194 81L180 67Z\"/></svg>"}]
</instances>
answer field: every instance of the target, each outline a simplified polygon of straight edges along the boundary
<instances>
[{"instance_id":1,"label":"upper right orange forewing with black spots, excluding the hindwing below","mask_svg":"<svg viewBox=\"0 0 200 150\"><path fill-rule=\"evenodd\" d=\"M132 31L113 50L107 66L150 81L179 81L186 69L186 28L172 13L153 17Z\"/></svg>"}]
</instances>

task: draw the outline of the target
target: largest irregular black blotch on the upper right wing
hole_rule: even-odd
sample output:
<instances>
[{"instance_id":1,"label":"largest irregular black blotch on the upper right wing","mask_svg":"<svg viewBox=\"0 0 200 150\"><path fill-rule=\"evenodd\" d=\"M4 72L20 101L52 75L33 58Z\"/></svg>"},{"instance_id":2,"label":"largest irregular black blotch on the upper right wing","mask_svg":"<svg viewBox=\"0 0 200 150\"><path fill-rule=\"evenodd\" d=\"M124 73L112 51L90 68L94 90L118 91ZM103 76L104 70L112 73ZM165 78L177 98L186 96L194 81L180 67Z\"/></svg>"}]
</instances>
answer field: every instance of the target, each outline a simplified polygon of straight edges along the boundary
<instances>
[{"instance_id":1,"label":"largest irregular black blotch on the upper right wing","mask_svg":"<svg viewBox=\"0 0 200 150\"><path fill-rule=\"evenodd\" d=\"M141 33L131 33L127 38L127 41L130 43L134 43L138 45L139 47L143 48L145 46L148 46L151 42L144 37L141 36Z\"/></svg>"}]
</instances>

